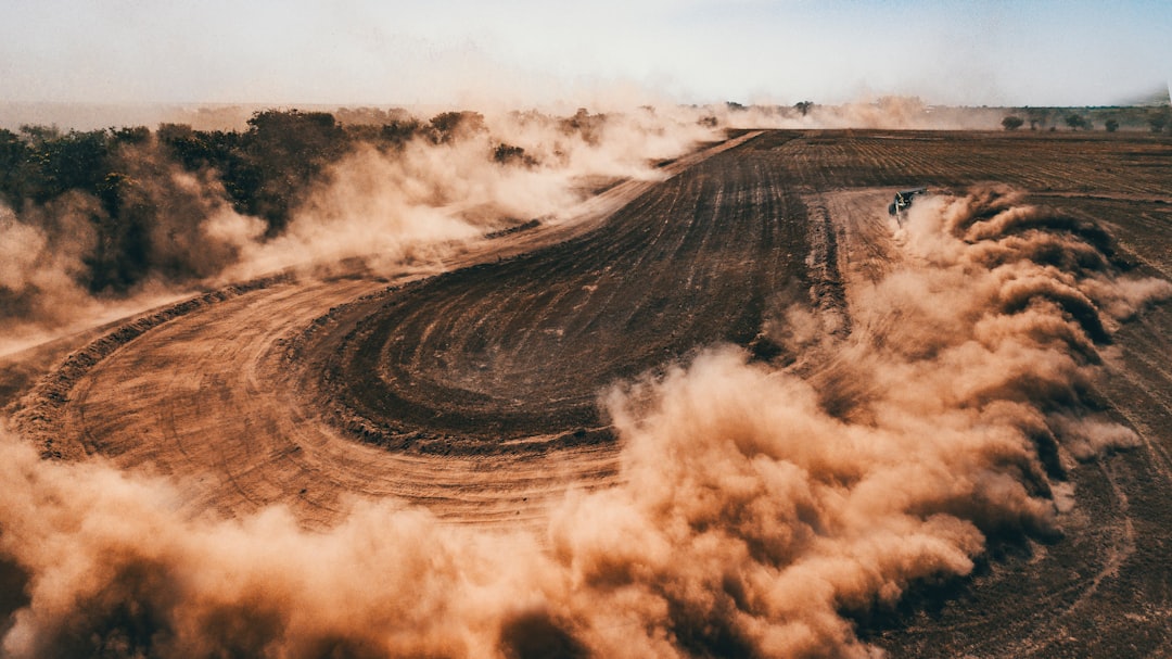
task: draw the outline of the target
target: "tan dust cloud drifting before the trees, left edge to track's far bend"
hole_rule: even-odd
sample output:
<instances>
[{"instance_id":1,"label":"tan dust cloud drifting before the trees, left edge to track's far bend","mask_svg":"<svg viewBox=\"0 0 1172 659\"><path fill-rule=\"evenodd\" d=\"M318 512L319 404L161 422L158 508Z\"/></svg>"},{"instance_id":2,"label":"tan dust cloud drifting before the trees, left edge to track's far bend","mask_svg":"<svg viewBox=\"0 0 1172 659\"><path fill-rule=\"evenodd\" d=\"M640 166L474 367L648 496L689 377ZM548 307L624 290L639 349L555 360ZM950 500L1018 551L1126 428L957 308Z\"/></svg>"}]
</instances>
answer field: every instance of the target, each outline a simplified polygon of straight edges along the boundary
<instances>
[{"instance_id":1,"label":"tan dust cloud drifting before the trees, left edge to track's far bend","mask_svg":"<svg viewBox=\"0 0 1172 659\"><path fill-rule=\"evenodd\" d=\"M718 138L682 110L463 114L442 138L356 140L275 235L233 208L220 172L184 170L151 135L111 148L117 174L98 186L116 199L0 197L0 354L275 270L436 264L486 232L565 220L595 186L655 178L655 163Z\"/></svg>"}]
</instances>

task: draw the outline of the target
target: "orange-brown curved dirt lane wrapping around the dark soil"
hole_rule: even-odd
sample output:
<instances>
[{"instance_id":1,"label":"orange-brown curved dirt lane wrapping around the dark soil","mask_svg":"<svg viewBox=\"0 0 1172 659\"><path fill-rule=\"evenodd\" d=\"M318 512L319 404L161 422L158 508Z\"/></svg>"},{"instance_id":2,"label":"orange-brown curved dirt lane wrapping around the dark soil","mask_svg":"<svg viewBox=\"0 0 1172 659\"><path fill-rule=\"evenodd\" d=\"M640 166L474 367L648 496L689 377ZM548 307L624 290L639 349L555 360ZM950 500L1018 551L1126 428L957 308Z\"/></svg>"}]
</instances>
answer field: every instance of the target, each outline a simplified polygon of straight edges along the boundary
<instances>
[{"instance_id":1,"label":"orange-brown curved dirt lane wrapping around the dark soil","mask_svg":"<svg viewBox=\"0 0 1172 659\"><path fill-rule=\"evenodd\" d=\"M681 158L667 174L679 176L687 167L752 137ZM536 263L518 254L570 242L582 246L594 270L604 272L611 265L606 263L609 254L632 244L646 246L646 237L643 243L633 240L645 236L641 218L654 215L662 199L672 198L656 192L663 185L618 185L605 198L582 204L574 222L473 245L455 253L449 266L476 273L495 266L498 258L506 264ZM612 232L607 226L599 231L599 226L613 224L608 218L624 205L629 210L620 230ZM636 252L643 258L641 247ZM652 261L646 263L650 266ZM434 276L407 273L391 284L398 291L425 288L429 284L420 280L428 274ZM540 272L531 266L520 276L539 277ZM621 277L615 276L615 280ZM241 516L281 504L306 526L325 528L342 518L355 497L396 497L428 505L458 523L540 524L546 503L560 497L567 487L613 482L613 444L571 446L547 454L505 446L498 456L443 456L393 454L338 433L321 410L306 406L299 395L306 372L291 361L295 352L291 346L307 332L326 335L339 330L336 322L314 322L329 310L363 298L380 300L386 288L386 279L361 272L328 280L285 277L151 312L69 358L42 381L21 414L27 429L52 437L53 448L73 447L68 456L97 453L124 469L172 477L182 498L179 512L189 516L209 510ZM567 305L581 300L573 299L573 291L557 288L551 286L545 308L552 311L547 313L585 319L582 335L594 332L590 324L612 322L621 311L613 304L600 310L587 304L588 313L574 315ZM481 291L473 287L452 295L440 308L481 304L476 308L495 312L492 305L484 306L477 299ZM457 327L436 322L428 313L416 318L421 331L437 341L443 332ZM518 330L530 330L524 314L509 318L507 325L518 337ZM477 324L470 327L484 330ZM499 330L497 321L491 327ZM342 334L350 328L342 327ZM477 346L475 337L464 339L464 344L428 346L455 351L452 354L463 358ZM435 359L418 355L414 359ZM524 362L525 355L520 356L531 369L540 365L532 358ZM413 359L410 353L408 359ZM536 441L547 439L538 436Z\"/></svg>"}]
</instances>

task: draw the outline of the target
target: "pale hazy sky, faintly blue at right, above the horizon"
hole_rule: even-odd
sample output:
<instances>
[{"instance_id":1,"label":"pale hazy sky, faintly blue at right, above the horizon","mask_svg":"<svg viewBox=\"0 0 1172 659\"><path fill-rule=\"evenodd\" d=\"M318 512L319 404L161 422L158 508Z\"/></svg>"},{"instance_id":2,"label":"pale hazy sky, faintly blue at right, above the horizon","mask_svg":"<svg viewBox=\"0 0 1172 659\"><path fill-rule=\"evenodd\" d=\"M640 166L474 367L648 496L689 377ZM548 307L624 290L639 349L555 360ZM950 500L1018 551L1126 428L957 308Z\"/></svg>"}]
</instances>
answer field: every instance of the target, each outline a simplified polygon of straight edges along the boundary
<instances>
[{"instance_id":1,"label":"pale hazy sky, faintly blue at right, above the horizon","mask_svg":"<svg viewBox=\"0 0 1172 659\"><path fill-rule=\"evenodd\" d=\"M1172 1L0 0L0 101L1111 104ZM602 90L602 91L599 91Z\"/></svg>"}]
</instances>

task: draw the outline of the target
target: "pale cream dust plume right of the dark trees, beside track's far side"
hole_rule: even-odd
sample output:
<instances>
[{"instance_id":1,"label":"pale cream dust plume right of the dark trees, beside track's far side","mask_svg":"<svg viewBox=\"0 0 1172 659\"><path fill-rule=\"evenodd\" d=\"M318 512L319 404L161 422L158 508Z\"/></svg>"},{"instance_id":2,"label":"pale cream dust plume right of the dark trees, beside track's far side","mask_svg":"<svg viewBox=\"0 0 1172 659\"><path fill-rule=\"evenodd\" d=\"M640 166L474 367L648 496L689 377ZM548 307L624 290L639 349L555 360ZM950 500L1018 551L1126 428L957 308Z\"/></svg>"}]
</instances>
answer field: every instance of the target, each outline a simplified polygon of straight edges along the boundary
<instances>
[{"instance_id":1,"label":"pale cream dust plume right of the dark trees, beside track's far side","mask_svg":"<svg viewBox=\"0 0 1172 659\"><path fill-rule=\"evenodd\" d=\"M646 109L462 113L449 134L391 150L361 144L329 168L281 236L245 249L225 279L343 258L398 266L486 232L568 219L592 184L655 178L655 162L716 138L689 120Z\"/></svg>"}]
</instances>

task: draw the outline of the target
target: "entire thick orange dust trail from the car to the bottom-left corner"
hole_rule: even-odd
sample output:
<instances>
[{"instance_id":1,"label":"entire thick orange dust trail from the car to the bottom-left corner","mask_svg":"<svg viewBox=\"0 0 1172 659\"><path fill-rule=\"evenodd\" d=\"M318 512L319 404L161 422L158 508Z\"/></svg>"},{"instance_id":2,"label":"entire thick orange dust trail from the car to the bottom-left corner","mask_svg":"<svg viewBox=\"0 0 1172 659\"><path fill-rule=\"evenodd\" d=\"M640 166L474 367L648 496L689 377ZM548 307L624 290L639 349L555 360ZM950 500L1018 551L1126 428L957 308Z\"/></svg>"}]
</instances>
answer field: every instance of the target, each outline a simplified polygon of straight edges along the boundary
<instances>
[{"instance_id":1,"label":"entire thick orange dust trail from the car to the bottom-left corner","mask_svg":"<svg viewBox=\"0 0 1172 659\"><path fill-rule=\"evenodd\" d=\"M714 347L604 405L624 484L544 537L355 502L178 519L162 481L0 443L6 657L868 657L856 620L1061 531L1054 491L1134 442L1089 393L1112 330L1172 297L1092 225L1006 189L924 199L860 330L805 368ZM1061 488L1058 487L1061 485ZM1076 492L1077 498L1077 492ZM1061 541L1059 541L1061 542Z\"/></svg>"}]
</instances>

